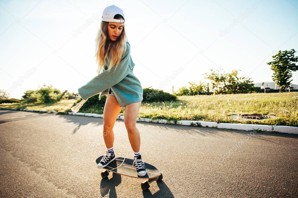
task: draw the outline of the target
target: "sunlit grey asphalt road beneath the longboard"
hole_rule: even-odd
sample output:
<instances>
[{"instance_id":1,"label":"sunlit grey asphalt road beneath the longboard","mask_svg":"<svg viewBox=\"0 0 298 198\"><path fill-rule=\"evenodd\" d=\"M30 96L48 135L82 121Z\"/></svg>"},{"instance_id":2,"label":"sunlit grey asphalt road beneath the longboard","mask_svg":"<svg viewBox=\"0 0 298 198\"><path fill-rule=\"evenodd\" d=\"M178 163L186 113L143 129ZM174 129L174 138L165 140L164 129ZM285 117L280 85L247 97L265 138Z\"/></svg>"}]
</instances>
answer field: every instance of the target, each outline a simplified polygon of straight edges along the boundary
<instances>
[{"instance_id":1,"label":"sunlit grey asphalt road beneath the longboard","mask_svg":"<svg viewBox=\"0 0 298 198\"><path fill-rule=\"evenodd\" d=\"M100 177L103 119L0 110L1 197L297 197L298 135L137 122L163 180ZM116 156L133 158L123 120Z\"/></svg>"}]
</instances>

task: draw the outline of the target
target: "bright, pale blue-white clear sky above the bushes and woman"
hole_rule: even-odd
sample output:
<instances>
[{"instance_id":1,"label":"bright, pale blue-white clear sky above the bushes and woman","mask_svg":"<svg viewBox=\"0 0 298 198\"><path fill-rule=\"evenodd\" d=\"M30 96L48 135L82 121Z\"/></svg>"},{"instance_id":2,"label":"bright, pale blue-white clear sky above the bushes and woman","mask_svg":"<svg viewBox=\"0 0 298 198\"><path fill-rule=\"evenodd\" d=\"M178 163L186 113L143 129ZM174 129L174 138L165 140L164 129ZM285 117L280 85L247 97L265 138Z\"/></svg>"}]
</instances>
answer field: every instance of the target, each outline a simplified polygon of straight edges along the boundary
<instances>
[{"instance_id":1,"label":"bright, pale blue-white clear sky above the bushes and woman","mask_svg":"<svg viewBox=\"0 0 298 198\"><path fill-rule=\"evenodd\" d=\"M0 89L18 99L44 83L77 92L97 75L94 40L112 4L143 88L172 93L218 68L271 82L271 56L298 51L297 0L0 1Z\"/></svg>"}]
</instances>

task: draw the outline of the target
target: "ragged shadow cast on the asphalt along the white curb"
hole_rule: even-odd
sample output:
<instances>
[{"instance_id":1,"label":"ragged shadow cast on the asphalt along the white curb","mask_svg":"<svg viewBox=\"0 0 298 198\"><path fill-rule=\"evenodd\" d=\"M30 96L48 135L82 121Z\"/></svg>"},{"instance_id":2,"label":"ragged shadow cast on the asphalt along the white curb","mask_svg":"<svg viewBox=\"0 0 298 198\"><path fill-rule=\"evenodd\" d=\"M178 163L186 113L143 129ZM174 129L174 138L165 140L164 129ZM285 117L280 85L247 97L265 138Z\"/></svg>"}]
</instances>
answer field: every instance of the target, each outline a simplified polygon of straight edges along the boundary
<instances>
[{"instance_id":1,"label":"ragged shadow cast on the asphalt along the white curb","mask_svg":"<svg viewBox=\"0 0 298 198\"><path fill-rule=\"evenodd\" d=\"M76 133L81 126L84 126L90 123L98 126L103 125L103 118L86 117L86 116L79 116L79 115L55 115L55 114L49 114L49 113L1 110L0 116L7 113L17 113L17 112L26 113L27 115L22 114L24 116L19 116L13 119L4 118L0 120L0 123L38 118L40 116L55 116L63 123L66 122L66 123L75 124L76 127L75 129L73 129L73 132L72 132L73 134ZM30 113L30 115L28 115L28 113ZM63 118L63 120L61 120L61 118ZM119 120L119 119L117 121L124 122L124 120ZM174 125L174 124L167 124L167 123L148 123L148 122L137 121L137 127L139 130L142 130L142 128L144 128L144 130L148 130L146 126L150 126L150 127L154 126L155 129L157 130L170 130L181 134L190 134L190 135L196 134L201 136L213 136L213 137L219 137L219 138L220 137L225 138L229 134L242 134L242 135L249 135L252 138L257 138L260 140L265 140L265 141L274 142L274 143L285 142L285 141L283 141L282 139L277 140L276 138L272 138L272 137L298 138L297 134L285 134L285 133L277 133L277 132L252 132L252 131L249 132L249 131L235 130L235 129L217 129L217 128L210 128L210 127L184 126L184 125ZM147 129L145 129L145 127ZM229 132L229 134L225 132ZM190 136L190 138L198 139L199 137Z\"/></svg>"}]
</instances>

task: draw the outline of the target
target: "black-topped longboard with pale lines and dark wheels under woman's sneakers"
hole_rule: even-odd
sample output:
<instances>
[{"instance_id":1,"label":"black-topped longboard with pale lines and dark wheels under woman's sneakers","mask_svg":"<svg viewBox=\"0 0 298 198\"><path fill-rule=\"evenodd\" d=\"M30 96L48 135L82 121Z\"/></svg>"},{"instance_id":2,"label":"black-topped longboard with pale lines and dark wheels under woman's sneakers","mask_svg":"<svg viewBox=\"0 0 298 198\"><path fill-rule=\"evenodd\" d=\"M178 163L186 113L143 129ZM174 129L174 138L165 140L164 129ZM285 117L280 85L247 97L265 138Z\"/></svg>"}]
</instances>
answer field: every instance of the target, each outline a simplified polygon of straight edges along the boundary
<instances>
[{"instance_id":1,"label":"black-topped longboard with pale lines and dark wheels under woman's sneakers","mask_svg":"<svg viewBox=\"0 0 298 198\"><path fill-rule=\"evenodd\" d=\"M99 158L97 158L95 160L96 164L98 164L102 158L103 156L100 156ZM112 161L106 167L102 168L105 170L100 173L100 176L102 178L107 178L109 175L109 172L114 172L119 175L124 175L131 178L148 179L141 183L142 190L147 190L150 187L149 183L153 181L162 180L162 173L153 165L148 164L146 162L144 162L144 164L146 167L146 175L141 177L136 173L136 165L133 159L129 159L125 157L116 157L114 161Z\"/></svg>"}]
</instances>

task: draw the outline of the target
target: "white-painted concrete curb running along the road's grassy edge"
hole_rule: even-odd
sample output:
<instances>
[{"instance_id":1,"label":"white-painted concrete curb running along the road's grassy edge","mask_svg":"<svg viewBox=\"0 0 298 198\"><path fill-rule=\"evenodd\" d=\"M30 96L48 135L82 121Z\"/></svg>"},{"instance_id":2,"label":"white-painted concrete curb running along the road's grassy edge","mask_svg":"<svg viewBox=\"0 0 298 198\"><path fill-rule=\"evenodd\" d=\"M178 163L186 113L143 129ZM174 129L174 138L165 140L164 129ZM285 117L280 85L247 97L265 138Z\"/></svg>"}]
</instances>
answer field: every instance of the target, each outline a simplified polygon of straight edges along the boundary
<instances>
[{"instance_id":1,"label":"white-painted concrete curb running along the road's grassy edge","mask_svg":"<svg viewBox=\"0 0 298 198\"><path fill-rule=\"evenodd\" d=\"M10 109L10 108L3 108L3 107L0 107L0 109L56 113L56 111L46 111L46 110L36 110L36 109L34 109L34 110L33 109ZM103 114L96 114L96 113L66 112L66 114L103 118ZM124 115L118 115L117 119L124 120ZM169 124L186 125L186 126L204 126L204 127L218 128L218 129L236 129L236 130L245 130L245 131L259 130L259 131L263 131L263 132L279 132L279 133L298 134L298 127L295 127L295 126L217 123L217 122L192 121L192 120L180 120L180 121L175 122L175 121L169 121L169 120L165 120L165 119L151 119L151 118L140 118L140 117L137 117L137 121L152 122L152 123L153 122L154 123L169 123Z\"/></svg>"}]
</instances>

